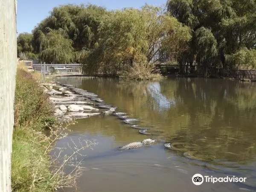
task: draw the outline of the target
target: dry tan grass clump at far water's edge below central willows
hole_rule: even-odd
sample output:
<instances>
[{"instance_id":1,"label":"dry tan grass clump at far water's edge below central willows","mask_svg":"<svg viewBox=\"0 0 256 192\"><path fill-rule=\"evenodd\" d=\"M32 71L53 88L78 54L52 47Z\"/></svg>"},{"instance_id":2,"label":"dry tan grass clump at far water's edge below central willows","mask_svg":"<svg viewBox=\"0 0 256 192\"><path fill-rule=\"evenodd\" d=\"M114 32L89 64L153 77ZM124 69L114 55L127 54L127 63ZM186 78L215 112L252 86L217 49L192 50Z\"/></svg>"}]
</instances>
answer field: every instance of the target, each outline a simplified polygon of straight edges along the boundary
<instances>
[{"instance_id":1,"label":"dry tan grass clump at far water's edge below central willows","mask_svg":"<svg viewBox=\"0 0 256 192\"><path fill-rule=\"evenodd\" d=\"M127 70L120 73L119 77L122 79L137 81L158 81L163 78L163 76L160 75L160 70L156 69L154 64L146 62L136 63L132 67L129 66Z\"/></svg>"}]
</instances>

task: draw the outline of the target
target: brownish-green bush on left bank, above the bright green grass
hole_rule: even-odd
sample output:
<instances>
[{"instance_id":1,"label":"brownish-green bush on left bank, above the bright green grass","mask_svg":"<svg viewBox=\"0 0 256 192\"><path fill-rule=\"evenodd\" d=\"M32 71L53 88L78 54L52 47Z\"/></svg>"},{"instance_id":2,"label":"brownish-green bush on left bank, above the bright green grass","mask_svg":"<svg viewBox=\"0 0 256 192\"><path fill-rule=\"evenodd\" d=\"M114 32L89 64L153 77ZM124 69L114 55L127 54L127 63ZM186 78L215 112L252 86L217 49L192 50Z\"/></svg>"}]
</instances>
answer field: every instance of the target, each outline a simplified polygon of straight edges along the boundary
<instances>
[{"instance_id":1,"label":"brownish-green bush on left bank, above the bright green grass","mask_svg":"<svg viewBox=\"0 0 256 192\"><path fill-rule=\"evenodd\" d=\"M18 69L15 88L15 127L30 125L43 131L55 122L48 96L33 79L32 74ZM45 124L45 122L49 122Z\"/></svg>"}]
</instances>

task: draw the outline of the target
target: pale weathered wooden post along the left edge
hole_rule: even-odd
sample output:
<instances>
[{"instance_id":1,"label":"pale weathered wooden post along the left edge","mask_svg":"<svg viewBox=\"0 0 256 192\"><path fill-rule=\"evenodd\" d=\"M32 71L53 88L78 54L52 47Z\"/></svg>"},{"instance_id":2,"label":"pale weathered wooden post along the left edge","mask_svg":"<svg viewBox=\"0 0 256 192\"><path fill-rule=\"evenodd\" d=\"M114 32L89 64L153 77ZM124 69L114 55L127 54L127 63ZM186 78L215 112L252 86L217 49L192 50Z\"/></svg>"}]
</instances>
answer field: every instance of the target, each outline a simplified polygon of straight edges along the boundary
<instances>
[{"instance_id":1,"label":"pale weathered wooden post along the left edge","mask_svg":"<svg viewBox=\"0 0 256 192\"><path fill-rule=\"evenodd\" d=\"M17 0L0 0L0 191L11 192Z\"/></svg>"}]
</instances>

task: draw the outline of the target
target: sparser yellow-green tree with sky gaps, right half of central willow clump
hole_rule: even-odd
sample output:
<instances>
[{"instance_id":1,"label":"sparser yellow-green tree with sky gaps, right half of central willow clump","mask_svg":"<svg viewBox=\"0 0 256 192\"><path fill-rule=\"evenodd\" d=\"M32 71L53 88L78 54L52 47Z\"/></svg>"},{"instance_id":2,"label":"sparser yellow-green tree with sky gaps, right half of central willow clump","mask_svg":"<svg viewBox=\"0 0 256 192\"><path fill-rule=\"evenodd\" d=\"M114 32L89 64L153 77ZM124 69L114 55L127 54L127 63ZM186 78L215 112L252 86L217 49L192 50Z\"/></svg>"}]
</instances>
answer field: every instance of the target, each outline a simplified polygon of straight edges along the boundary
<instances>
[{"instance_id":1,"label":"sparser yellow-green tree with sky gaps, right half of central willow clump","mask_svg":"<svg viewBox=\"0 0 256 192\"><path fill-rule=\"evenodd\" d=\"M163 14L163 9L144 6L142 15L145 18L148 51L148 62L162 59L176 60L187 48L191 39L191 29L178 22L175 17Z\"/></svg>"}]
</instances>

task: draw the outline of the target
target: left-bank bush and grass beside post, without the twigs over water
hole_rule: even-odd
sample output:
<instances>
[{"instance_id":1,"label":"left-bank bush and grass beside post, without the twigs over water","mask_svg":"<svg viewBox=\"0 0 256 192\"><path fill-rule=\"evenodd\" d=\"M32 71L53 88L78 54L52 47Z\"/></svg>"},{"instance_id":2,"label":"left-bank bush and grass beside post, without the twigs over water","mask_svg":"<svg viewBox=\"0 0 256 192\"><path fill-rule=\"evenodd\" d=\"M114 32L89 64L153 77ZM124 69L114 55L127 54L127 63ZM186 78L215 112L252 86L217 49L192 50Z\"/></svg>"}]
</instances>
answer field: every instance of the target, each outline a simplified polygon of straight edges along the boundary
<instances>
[{"instance_id":1,"label":"left-bank bush and grass beside post, without the twigs over water","mask_svg":"<svg viewBox=\"0 0 256 192\"><path fill-rule=\"evenodd\" d=\"M32 74L18 68L12 141L12 191L52 191L51 161L42 132L56 125L54 108ZM38 175L41 175L38 177ZM32 189L33 188L33 189Z\"/></svg>"}]
</instances>

